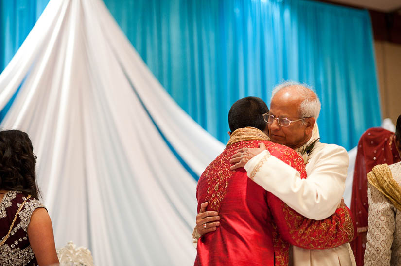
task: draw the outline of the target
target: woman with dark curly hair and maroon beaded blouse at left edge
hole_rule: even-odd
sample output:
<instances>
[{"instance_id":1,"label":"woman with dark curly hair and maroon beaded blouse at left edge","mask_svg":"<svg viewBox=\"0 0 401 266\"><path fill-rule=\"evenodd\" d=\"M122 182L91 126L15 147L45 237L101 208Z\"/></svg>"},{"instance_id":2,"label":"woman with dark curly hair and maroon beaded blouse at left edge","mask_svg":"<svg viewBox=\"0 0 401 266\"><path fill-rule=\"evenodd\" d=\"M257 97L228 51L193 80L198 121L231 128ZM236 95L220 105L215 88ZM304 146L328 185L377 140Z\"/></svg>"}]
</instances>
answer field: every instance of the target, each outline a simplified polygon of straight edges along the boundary
<instances>
[{"instance_id":1,"label":"woman with dark curly hair and maroon beaded blouse at left edge","mask_svg":"<svg viewBox=\"0 0 401 266\"><path fill-rule=\"evenodd\" d=\"M28 134L0 131L0 265L58 264L52 221L38 199Z\"/></svg>"}]
</instances>

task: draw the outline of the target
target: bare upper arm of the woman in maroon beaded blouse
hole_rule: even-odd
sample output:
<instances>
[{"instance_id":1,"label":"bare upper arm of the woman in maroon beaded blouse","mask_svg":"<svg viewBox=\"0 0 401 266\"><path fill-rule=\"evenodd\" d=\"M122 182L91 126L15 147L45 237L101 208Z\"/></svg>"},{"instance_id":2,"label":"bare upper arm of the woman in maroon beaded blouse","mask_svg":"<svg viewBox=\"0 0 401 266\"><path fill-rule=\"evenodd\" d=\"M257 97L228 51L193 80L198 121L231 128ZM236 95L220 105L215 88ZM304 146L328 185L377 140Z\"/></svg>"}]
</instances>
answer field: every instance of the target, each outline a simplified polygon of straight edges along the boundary
<instances>
[{"instance_id":1,"label":"bare upper arm of the woman in maroon beaded blouse","mask_svg":"<svg viewBox=\"0 0 401 266\"><path fill-rule=\"evenodd\" d=\"M39 265L59 263L54 244L52 221L45 208L37 208L28 225L28 238Z\"/></svg>"}]
</instances>

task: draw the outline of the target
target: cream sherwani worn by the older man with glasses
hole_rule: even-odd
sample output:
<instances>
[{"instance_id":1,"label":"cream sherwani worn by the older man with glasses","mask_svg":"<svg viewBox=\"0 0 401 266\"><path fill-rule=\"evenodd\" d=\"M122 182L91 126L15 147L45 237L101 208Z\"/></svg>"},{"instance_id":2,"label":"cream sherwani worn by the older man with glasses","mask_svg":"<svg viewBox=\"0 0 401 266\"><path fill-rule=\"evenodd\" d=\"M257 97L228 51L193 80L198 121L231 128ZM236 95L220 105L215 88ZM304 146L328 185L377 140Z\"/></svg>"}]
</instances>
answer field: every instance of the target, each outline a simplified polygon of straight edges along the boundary
<instances>
[{"instance_id":1,"label":"cream sherwani worn by the older man with glasses","mask_svg":"<svg viewBox=\"0 0 401 266\"><path fill-rule=\"evenodd\" d=\"M303 147L314 139L312 137ZM244 168L253 181L307 218L325 219L335 212L344 193L349 162L343 147L316 142L312 152L304 158L307 179L300 179L294 168L267 153L263 151L246 163ZM292 246L291 251L295 266L355 265L349 243L326 250Z\"/></svg>"}]
</instances>

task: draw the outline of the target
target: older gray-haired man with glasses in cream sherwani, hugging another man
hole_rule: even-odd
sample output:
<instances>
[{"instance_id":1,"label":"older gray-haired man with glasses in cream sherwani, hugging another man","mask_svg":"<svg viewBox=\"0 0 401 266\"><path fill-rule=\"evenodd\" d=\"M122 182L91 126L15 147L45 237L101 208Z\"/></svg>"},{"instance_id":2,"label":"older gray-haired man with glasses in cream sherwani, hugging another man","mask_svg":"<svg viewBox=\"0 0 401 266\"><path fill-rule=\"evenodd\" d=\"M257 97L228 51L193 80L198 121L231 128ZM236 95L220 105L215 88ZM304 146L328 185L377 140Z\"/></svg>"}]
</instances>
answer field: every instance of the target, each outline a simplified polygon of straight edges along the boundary
<instances>
[{"instance_id":1,"label":"older gray-haired man with glasses in cream sherwani, hugging another man","mask_svg":"<svg viewBox=\"0 0 401 266\"><path fill-rule=\"evenodd\" d=\"M307 179L301 179L294 168L270 156L263 144L257 149L240 149L231 159L234 164L231 169L244 167L248 177L258 185L301 215L315 220L331 216L340 205L349 163L343 147L319 141L318 130L314 130L319 112L320 101L311 89L299 83L285 82L273 90L270 111L263 115L271 141L286 145L302 155ZM199 213L198 232L210 232L212 228L209 226L209 230L203 232L198 225L203 222L212 224L213 221L210 215ZM349 234L354 234L353 230L350 228ZM318 232L316 234L319 235ZM296 246L292 246L291 250L291 265L355 265L349 243L325 250L307 250Z\"/></svg>"}]
</instances>

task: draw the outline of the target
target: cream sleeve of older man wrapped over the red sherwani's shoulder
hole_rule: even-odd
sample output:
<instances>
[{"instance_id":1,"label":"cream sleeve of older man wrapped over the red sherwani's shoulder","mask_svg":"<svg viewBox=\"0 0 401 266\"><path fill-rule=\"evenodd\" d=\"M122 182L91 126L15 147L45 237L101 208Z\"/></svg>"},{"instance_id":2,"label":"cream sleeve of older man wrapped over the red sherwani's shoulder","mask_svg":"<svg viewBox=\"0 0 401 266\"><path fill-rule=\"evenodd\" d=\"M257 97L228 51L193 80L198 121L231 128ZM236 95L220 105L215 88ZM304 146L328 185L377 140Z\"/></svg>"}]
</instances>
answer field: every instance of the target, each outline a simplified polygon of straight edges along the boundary
<instances>
[{"instance_id":1,"label":"cream sleeve of older man wrapped over the red sherwani's shoulder","mask_svg":"<svg viewBox=\"0 0 401 266\"><path fill-rule=\"evenodd\" d=\"M306 165L307 179L300 179L290 165L266 155L268 151L263 151L244 166L253 181L309 219L325 219L335 212L344 193L349 162L343 147L316 143Z\"/></svg>"}]
</instances>

